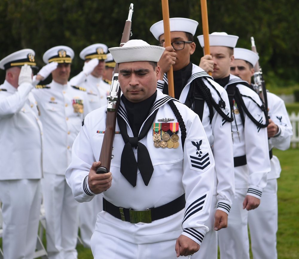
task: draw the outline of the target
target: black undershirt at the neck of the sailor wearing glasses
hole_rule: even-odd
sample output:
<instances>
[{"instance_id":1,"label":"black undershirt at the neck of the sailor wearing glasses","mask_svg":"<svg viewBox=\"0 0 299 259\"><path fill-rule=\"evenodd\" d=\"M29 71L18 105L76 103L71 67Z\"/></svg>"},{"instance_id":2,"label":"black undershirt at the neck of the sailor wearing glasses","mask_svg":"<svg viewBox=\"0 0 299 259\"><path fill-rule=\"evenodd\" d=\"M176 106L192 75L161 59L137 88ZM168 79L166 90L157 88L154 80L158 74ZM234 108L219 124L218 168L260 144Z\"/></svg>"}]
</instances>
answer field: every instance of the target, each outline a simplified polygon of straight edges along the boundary
<instances>
[{"instance_id":1,"label":"black undershirt at the neck of the sailor wearing glasses","mask_svg":"<svg viewBox=\"0 0 299 259\"><path fill-rule=\"evenodd\" d=\"M181 96L181 92L183 91L184 87L186 86L189 78L192 75L192 63L190 62L184 68L173 71L173 81L174 81L174 97L179 100ZM168 88L163 88L163 93L168 95Z\"/></svg>"}]
</instances>

